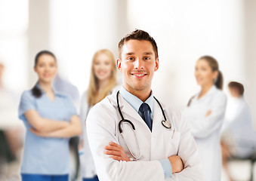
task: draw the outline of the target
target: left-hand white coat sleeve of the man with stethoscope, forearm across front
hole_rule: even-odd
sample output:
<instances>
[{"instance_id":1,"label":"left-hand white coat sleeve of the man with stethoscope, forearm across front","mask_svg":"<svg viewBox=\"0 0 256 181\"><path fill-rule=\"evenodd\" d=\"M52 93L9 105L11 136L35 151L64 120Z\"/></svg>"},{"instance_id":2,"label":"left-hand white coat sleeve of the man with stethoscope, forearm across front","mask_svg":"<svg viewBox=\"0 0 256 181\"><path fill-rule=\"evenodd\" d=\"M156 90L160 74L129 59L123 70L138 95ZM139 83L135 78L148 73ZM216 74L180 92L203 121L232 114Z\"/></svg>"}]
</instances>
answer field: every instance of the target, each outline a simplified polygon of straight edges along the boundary
<instances>
[{"instance_id":1,"label":"left-hand white coat sleeve of the man with stethoscope, forearm across front","mask_svg":"<svg viewBox=\"0 0 256 181\"><path fill-rule=\"evenodd\" d=\"M116 136L116 109L103 100L94 106L86 121L88 141L94 158L97 176L103 181L165 180L159 161L115 161L104 154L109 142L119 144Z\"/></svg>"}]
</instances>

